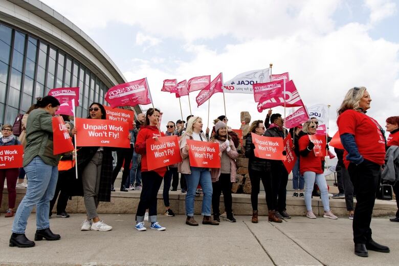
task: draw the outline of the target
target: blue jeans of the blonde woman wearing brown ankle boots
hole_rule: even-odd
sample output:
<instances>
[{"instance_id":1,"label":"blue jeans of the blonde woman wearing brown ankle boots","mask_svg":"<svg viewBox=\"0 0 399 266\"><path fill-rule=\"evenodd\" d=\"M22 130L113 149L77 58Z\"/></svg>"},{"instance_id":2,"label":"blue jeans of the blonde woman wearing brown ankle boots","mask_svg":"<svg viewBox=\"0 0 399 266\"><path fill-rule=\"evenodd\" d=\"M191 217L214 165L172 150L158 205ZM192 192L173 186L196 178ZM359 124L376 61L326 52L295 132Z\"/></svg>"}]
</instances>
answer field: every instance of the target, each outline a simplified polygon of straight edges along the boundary
<instances>
[{"instance_id":1,"label":"blue jeans of the blonde woman wearing brown ankle boots","mask_svg":"<svg viewBox=\"0 0 399 266\"><path fill-rule=\"evenodd\" d=\"M191 167L191 174L185 174L187 182L186 215L194 216L194 198L198 184L201 184L204 198L201 215L211 216L212 179L208 168Z\"/></svg>"}]
</instances>

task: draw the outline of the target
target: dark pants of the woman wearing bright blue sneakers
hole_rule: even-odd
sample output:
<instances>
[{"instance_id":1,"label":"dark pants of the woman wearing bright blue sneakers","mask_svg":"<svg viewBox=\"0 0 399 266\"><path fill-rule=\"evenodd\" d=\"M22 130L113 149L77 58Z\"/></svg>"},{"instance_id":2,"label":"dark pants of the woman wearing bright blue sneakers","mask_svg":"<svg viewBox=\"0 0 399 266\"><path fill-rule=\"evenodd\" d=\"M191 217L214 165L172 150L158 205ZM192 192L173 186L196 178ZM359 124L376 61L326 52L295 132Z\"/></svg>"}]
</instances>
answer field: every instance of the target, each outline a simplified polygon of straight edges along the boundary
<instances>
[{"instance_id":1,"label":"dark pants of the woman wearing bright blue sneakers","mask_svg":"<svg viewBox=\"0 0 399 266\"><path fill-rule=\"evenodd\" d=\"M157 196L162 184L162 176L154 171L141 172L141 177L143 189L137 206L136 220L137 216L144 216L146 209L149 216L157 216Z\"/></svg>"}]
</instances>

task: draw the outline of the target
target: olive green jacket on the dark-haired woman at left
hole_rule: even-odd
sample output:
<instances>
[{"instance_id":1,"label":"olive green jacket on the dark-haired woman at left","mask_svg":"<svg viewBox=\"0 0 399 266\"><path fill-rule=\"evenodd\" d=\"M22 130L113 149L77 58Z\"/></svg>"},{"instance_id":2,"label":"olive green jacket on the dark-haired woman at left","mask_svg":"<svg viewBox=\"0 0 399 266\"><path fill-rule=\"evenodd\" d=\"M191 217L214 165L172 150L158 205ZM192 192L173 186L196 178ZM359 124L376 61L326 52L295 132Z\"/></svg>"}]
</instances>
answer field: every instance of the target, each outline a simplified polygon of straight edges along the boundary
<instances>
[{"instance_id":1,"label":"olive green jacket on the dark-haired woman at left","mask_svg":"<svg viewBox=\"0 0 399 266\"><path fill-rule=\"evenodd\" d=\"M28 117L26 126L26 147L24 166L39 156L48 165L57 166L61 154L53 154L53 116L46 110L34 109Z\"/></svg>"}]
</instances>

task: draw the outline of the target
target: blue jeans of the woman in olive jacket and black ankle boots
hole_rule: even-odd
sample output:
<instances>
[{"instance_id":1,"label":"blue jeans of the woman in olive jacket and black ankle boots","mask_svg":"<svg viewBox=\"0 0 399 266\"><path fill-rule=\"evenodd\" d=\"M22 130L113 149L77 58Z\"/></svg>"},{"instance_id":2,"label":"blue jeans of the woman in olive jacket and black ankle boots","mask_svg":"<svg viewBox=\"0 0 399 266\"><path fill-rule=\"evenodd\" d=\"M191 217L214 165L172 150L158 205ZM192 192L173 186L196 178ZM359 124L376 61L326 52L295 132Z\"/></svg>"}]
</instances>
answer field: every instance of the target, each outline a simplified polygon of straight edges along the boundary
<instances>
[{"instance_id":1,"label":"blue jeans of the woman in olive jacket and black ankle boots","mask_svg":"<svg viewBox=\"0 0 399 266\"><path fill-rule=\"evenodd\" d=\"M12 232L24 234L29 215L36 205L36 229L50 228L50 201L58 180L58 167L46 164L36 156L24 167L29 186L15 214Z\"/></svg>"}]
</instances>

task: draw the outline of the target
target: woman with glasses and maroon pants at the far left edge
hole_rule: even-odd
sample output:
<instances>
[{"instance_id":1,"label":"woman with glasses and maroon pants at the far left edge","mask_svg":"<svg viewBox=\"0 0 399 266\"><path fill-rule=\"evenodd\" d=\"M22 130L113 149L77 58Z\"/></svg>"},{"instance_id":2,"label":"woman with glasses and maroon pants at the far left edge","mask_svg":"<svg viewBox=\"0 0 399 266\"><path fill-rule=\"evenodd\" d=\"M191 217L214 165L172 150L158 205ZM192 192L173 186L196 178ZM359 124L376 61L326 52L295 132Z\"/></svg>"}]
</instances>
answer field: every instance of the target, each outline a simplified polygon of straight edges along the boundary
<instances>
[{"instance_id":1,"label":"woman with glasses and maroon pants at the far left edge","mask_svg":"<svg viewBox=\"0 0 399 266\"><path fill-rule=\"evenodd\" d=\"M12 134L12 125L4 124L2 126L3 137L0 138L0 146L20 145L21 143ZM16 200L16 182L18 179L18 168L6 168L0 169L0 206L2 205L3 199L3 187L4 182L7 179L7 191L8 191L8 210L6 211L5 217L14 216L14 207Z\"/></svg>"}]
</instances>

